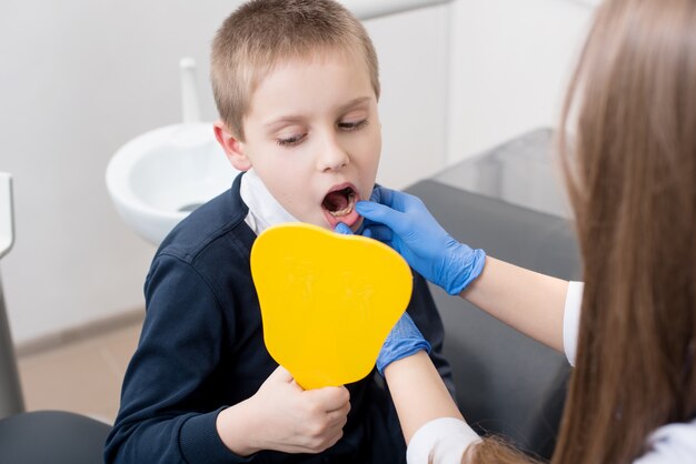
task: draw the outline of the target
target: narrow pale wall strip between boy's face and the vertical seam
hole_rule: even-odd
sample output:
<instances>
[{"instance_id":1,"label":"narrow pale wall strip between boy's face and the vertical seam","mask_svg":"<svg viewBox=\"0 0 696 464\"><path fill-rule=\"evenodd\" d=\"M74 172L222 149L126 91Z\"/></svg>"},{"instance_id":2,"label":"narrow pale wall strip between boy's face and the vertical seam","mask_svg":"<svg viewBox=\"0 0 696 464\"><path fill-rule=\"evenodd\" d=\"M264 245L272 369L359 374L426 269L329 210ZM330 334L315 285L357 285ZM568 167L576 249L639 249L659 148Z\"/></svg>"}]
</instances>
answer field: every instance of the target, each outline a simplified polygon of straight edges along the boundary
<instances>
[{"instance_id":1,"label":"narrow pale wall strip between boy's face and the vertical seam","mask_svg":"<svg viewBox=\"0 0 696 464\"><path fill-rule=\"evenodd\" d=\"M449 7L366 21L379 56L382 158L377 181L395 189L446 161Z\"/></svg>"}]
</instances>

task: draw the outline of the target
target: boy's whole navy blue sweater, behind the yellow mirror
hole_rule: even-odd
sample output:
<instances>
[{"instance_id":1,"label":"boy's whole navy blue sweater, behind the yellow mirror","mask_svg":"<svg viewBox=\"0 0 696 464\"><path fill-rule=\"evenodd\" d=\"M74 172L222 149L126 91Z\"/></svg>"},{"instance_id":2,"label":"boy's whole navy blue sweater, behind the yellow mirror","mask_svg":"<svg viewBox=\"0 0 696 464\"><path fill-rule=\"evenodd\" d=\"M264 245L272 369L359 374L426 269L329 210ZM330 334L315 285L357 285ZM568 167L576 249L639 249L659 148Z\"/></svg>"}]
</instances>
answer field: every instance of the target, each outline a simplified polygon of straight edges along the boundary
<instances>
[{"instance_id":1,"label":"boy's whole navy blue sweater, behind the yellow mirror","mask_svg":"<svg viewBox=\"0 0 696 464\"><path fill-rule=\"evenodd\" d=\"M106 462L405 463L394 404L375 371L347 385L351 410L344 437L320 454L261 451L242 457L218 436L218 413L253 395L277 367L264 345L249 270L256 234L245 222L240 179L181 221L155 255L145 284L142 334L126 372ZM419 275L408 312L454 390L440 354L443 323Z\"/></svg>"}]
</instances>

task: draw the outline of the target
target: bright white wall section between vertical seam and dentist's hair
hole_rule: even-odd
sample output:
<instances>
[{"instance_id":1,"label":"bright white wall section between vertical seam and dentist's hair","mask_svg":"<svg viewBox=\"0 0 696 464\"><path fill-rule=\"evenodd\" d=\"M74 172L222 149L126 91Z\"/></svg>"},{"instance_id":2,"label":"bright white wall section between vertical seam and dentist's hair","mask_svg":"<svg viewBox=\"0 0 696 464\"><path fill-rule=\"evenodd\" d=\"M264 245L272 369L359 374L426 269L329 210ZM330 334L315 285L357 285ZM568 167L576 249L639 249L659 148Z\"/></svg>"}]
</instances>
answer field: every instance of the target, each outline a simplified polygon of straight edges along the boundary
<instances>
[{"instance_id":1,"label":"bright white wall section between vertical seam and dentist's hair","mask_svg":"<svg viewBox=\"0 0 696 464\"><path fill-rule=\"evenodd\" d=\"M599 0L453 3L448 162L557 124Z\"/></svg>"}]
</instances>

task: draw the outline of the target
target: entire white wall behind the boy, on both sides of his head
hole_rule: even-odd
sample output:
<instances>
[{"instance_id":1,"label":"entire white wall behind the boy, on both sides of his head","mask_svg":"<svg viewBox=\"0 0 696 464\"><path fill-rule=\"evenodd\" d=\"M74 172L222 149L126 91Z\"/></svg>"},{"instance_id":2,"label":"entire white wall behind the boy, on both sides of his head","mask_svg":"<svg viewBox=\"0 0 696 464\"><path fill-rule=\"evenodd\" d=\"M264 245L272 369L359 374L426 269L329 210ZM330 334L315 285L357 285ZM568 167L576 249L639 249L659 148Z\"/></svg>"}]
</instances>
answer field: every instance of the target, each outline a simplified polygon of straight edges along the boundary
<instances>
[{"instance_id":1,"label":"entire white wall behind the boy, on both sides of his head","mask_svg":"<svg viewBox=\"0 0 696 464\"><path fill-rule=\"evenodd\" d=\"M199 64L202 118L216 117L209 44L239 3L3 2L0 171L14 176L17 241L1 271L16 342L142 306L155 248L117 216L105 169L129 139L180 120L183 56ZM550 123L587 12L571 0L457 0L367 21L384 88L378 180L402 188Z\"/></svg>"}]
</instances>

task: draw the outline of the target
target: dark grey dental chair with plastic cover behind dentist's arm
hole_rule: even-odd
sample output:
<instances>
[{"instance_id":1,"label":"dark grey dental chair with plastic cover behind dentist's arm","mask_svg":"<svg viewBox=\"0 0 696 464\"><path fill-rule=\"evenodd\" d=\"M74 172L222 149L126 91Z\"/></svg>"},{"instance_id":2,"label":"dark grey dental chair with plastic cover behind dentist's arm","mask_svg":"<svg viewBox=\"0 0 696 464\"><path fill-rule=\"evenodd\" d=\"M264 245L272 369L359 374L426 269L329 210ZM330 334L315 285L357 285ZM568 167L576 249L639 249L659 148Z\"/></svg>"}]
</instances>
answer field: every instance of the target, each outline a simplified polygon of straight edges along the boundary
<instances>
[{"instance_id":1,"label":"dark grey dental chair with plastic cover behind dentist's arm","mask_svg":"<svg viewBox=\"0 0 696 464\"><path fill-rule=\"evenodd\" d=\"M579 280L573 225L559 213L557 200L564 195L550 179L551 137L550 130L524 134L407 192L419 196L455 239L519 266ZM536 210L521 205L535 198L550 203ZM570 373L565 355L460 297L436 286L431 291L467 422L479 434L494 433L531 455L550 457Z\"/></svg>"}]
</instances>

